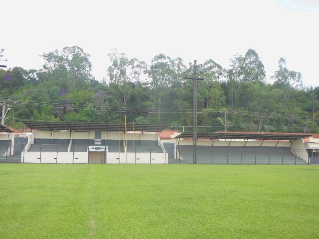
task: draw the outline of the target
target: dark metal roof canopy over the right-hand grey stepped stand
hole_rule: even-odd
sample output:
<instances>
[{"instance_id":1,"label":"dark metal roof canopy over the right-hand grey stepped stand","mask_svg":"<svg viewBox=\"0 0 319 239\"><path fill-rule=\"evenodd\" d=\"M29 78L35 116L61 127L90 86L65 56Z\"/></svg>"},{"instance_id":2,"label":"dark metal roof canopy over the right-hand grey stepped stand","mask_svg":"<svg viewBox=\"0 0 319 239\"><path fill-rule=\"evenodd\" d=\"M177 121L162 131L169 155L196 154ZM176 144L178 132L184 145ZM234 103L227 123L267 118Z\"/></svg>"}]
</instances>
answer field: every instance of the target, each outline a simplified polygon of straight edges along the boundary
<instances>
[{"instance_id":1,"label":"dark metal roof canopy over the right-hand grey stepped stand","mask_svg":"<svg viewBox=\"0 0 319 239\"><path fill-rule=\"evenodd\" d=\"M297 140L301 138L306 138L311 136L311 134L249 134L249 133L200 133L197 132L198 139L242 139L242 140ZM183 132L177 136L177 139L192 139L193 132Z\"/></svg>"}]
</instances>

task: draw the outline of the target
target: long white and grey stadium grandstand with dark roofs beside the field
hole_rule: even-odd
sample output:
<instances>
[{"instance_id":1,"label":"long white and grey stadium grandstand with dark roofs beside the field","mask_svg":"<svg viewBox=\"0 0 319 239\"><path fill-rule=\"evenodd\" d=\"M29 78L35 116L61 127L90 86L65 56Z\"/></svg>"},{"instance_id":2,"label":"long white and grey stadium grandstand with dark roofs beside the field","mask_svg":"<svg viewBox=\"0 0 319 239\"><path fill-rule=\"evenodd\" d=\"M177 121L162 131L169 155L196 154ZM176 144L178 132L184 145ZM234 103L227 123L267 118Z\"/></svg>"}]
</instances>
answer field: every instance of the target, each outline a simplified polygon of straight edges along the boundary
<instances>
[{"instance_id":1,"label":"long white and grey stadium grandstand with dark roofs beside the field","mask_svg":"<svg viewBox=\"0 0 319 239\"><path fill-rule=\"evenodd\" d=\"M24 121L0 127L0 162L319 164L319 134L169 130L168 125Z\"/></svg>"}]
</instances>

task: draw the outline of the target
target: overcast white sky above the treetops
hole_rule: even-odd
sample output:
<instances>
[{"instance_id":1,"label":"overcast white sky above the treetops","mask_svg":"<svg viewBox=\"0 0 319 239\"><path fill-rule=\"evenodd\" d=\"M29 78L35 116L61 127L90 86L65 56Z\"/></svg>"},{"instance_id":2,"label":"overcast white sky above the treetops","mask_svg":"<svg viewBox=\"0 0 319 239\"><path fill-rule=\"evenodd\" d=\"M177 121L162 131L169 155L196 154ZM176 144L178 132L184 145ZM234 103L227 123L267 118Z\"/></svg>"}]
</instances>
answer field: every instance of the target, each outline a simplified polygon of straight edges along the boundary
<instances>
[{"instance_id":1,"label":"overcast white sky above the treetops","mask_svg":"<svg viewBox=\"0 0 319 239\"><path fill-rule=\"evenodd\" d=\"M8 68L41 69L39 56L79 46L96 80L107 76L108 52L151 64L160 53L185 63L229 59L256 50L268 82L284 57L307 86L319 85L318 0L5 1L0 48Z\"/></svg>"}]
</instances>

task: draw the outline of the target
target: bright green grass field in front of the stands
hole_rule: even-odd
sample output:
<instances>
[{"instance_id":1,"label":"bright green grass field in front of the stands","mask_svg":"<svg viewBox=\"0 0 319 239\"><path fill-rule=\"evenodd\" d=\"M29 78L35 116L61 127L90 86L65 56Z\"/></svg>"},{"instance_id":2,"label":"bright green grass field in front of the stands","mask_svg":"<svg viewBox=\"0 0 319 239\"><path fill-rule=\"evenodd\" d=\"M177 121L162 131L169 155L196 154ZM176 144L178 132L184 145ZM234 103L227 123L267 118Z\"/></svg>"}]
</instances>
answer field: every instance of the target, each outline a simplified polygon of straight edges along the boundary
<instances>
[{"instance_id":1,"label":"bright green grass field in front of the stands","mask_svg":"<svg viewBox=\"0 0 319 239\"><path fill-rule=\"evenodd\" d=\"M319 238L319 166L0 164L0 238Z\"/></svg>"}]
</instances>

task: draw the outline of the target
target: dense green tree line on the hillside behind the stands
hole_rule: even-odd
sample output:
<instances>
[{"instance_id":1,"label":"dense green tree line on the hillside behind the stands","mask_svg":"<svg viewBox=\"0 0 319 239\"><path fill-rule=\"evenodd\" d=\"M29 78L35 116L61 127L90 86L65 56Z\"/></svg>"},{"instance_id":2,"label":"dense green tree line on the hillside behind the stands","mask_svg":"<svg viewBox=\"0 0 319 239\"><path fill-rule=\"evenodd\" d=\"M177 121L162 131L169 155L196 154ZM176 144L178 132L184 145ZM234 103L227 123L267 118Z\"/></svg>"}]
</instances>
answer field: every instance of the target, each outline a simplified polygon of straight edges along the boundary
<instances>
[{"instance_id":1,"label":"dense green tree line on the hillside behind the stands","mask_svg":"<svg viewBox=\"0 0 319 239\"><path fill-rule=\"evenodd\" d=\"M91 75L90 55L81 47L44 53L43 69L0 70L0 97L11 105L7 125L23 119L75 122L169 124L191 130L193 80L181 58L158 54L151 65L112 49L107 77ZM280 58L266 82L264 65L255 50L230 59L224 69L212 59L198 73L198 130L318 132L319 87L306 88L300 72Z\"/></svg>"}]
</instances>

